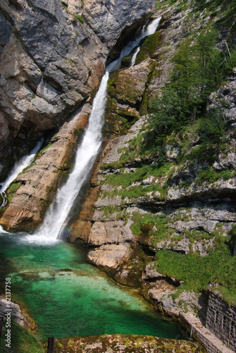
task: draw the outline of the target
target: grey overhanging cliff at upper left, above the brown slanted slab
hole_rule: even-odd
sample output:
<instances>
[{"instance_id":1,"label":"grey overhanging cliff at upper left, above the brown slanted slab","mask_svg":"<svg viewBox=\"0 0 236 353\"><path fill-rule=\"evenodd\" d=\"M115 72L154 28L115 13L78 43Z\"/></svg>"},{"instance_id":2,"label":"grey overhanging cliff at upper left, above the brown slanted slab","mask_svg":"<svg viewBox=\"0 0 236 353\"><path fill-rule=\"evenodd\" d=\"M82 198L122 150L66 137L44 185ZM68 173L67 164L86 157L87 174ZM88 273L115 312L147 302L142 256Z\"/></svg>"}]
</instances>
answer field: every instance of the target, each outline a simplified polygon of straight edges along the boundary
<instances>
[{"instance_id":1,"label":"grey overhanging cliff at upper left, above the brown slanted slab","mask_svg":"<svg viewBox=\"0 0 236 353\"><path fill-rule=\"evenodd\" d=\"M25 152L30 142L61 126L90 97L109 50L122 32L123 38L127 35L126 28L137 29L147 20L153 3L1 1L3 175L13 150Z\"/></svg>"}]
</instances>

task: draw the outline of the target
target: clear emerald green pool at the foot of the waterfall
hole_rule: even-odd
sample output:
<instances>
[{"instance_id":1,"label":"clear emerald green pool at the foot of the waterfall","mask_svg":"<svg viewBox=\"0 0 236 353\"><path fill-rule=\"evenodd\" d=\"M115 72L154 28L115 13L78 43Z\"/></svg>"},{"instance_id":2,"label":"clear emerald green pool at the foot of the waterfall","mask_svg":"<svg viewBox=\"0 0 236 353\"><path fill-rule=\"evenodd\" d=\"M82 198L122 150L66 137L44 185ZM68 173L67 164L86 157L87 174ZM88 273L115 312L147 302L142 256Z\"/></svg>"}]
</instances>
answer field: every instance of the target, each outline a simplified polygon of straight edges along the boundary
<instances>
[{"instance_id":1,"label":"clear emerald green pool at the foot of the waterfall","mask_svg":"<svg viewBox=\"0 0 236 353\"><path fill-rule=\"evenodd\" d=\"M180 327L163 321L135 290L124 289L86 263L73 244L29 244L24 234L0 234L0 283L23 301L37 335L70 337L127 333L186 339Z\"/></svg>"}]
</instances>

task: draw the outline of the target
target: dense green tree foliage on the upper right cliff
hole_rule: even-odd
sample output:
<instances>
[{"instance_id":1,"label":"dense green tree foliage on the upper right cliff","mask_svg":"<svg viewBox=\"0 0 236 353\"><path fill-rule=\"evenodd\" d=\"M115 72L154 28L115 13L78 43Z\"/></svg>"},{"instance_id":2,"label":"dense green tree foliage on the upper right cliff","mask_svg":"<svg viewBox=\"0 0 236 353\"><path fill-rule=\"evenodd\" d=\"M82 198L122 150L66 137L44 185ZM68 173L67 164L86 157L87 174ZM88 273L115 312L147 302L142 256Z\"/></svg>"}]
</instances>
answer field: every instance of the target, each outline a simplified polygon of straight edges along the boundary
<instances>
[{"instance_id":1,"label":"dense green tree foliage on the upper right cliff","mask_svg":"<svg viewBox=\"0 0 236 353\"><path fill-rule=\"evenodd\" d=\"M228 43L218 49L219 35L215 29L187 38L173 57L173 72L163 95L151 106L151 126L157 140L172 131L179 131L190 123L192 114L204 117L206 136L218 138L225 123L222 114L206 114L206 103L211 92L217 90L223 79L232 73L236 64L235 50ZM194 44L192 44L194 42ZM214 129L216 131L214 131Z\"/></svg>"}]
</instances>

